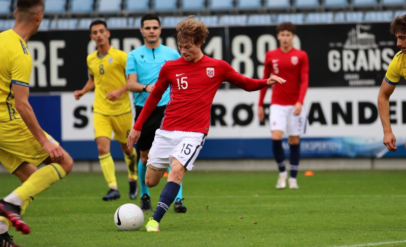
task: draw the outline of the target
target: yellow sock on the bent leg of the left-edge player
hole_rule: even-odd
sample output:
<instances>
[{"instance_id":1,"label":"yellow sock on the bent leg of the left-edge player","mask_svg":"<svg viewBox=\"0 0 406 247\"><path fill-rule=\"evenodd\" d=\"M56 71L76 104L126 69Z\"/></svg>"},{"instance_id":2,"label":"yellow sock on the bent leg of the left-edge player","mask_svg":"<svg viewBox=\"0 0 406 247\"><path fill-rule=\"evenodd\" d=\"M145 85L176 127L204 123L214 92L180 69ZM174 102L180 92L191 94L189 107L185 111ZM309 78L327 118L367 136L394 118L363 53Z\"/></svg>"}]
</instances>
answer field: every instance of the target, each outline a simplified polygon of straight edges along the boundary
<instances>
[{"instance_id":1,"label":"yellow sock on the bent leg of the left-edge player","mask_svg":"<svg viewBox=\"0 0 406 247\"><path fill-rule=\"evenodd\" d=\"M65 176L66 172L62 166L57 163L52 163L32 173L20 187L13 191L13 193L24 204L26 203L25 201L30 200L31 197L37 196Z\"/></svg>"}]
</instances>

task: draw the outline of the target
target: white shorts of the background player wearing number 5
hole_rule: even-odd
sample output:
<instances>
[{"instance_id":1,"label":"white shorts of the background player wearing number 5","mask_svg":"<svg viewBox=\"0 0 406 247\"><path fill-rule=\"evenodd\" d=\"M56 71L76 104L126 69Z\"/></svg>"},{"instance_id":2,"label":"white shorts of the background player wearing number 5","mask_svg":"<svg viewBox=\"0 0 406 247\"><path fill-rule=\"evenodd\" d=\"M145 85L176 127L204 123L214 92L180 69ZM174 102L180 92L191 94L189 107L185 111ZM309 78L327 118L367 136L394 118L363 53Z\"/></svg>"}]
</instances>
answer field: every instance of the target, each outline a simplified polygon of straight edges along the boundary
<instances>
[{"instance_id":1,"label":"white shorts of the background player wearing number 5","mask_svg":"<svg viewBox=\"0 0 406 247\"><path fill-rule=\"evenodd\" d=\"M271 104L269 107L270 131L281 130L288 136L306 133L308 117L304 105L299 115L293 115L294 105Z\"/></svg>"}]
</instances>

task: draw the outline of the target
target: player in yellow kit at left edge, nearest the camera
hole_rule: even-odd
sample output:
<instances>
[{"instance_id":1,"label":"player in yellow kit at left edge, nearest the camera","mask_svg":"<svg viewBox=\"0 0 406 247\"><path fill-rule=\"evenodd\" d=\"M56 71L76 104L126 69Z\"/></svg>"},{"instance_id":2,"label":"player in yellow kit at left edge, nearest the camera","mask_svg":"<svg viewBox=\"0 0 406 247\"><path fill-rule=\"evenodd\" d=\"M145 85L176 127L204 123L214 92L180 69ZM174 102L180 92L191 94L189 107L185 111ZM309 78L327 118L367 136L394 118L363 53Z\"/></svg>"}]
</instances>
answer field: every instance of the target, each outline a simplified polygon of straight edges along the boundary
<instances>
[{"instance_id":1,"label":"player in yellow kit at left edge, nearest the camera","mask_svg":"<svg viewBox=\"0 0 406 247\"><path fill-rule=\"evenodd\" d=\"M44 0L18 0L12 29L0 33L0 163L23 184L0 200L0 245L17 246L8 234L13 225L28 234L21 219L26 205L65 177L73 159L39 125L28 102L32 58L26 42L36 33ZM44 167L38 169L41 163Z\"/></svg>"}]
</instances>

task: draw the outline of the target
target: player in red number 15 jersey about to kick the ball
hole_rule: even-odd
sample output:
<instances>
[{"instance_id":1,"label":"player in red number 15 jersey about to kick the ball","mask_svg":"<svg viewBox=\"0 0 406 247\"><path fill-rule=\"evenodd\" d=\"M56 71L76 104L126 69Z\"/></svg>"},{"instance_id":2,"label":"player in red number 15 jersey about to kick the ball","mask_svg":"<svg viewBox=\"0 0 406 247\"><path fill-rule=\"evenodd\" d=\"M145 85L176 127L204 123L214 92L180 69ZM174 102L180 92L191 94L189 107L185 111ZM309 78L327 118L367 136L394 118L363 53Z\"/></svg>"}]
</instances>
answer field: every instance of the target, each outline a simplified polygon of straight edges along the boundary
<instances>
[{"instance_id":1,"label":"player in red number 15 jersey about to kick the ball","mask_svg":"<svg viewBox=\"0 0 406 247\"><path fill-rule=\"evenodd\" d=\"M222 82L229 82L246 91L259 90L285 80L272 76L250 79L235 72L225 61L210 58L201 51L209 30L206 24L189 16L176 26L176 37L182 57L167 61L161 68L155 87L128 135L127 146L132 148L140 137L145 120L155 109L166 88L170 87L170 101L166 104L160 128L155 133L149 152L145 184L158 185L168 163L168 174L154 215L149 219L147 232L159 232L159 222L178 194L187 170L192 170L210 125L210 108Z\"/></svg>"}]
</instances>

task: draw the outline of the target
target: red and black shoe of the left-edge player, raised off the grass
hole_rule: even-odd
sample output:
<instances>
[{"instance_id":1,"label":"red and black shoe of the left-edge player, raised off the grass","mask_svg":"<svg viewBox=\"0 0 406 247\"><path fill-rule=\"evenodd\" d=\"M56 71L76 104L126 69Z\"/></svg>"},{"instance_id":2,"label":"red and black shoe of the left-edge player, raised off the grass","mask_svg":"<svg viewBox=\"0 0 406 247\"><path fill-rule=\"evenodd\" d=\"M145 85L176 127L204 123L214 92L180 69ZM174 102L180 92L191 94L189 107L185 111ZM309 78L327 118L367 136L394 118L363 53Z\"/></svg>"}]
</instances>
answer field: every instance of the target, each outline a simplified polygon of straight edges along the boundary
<instances>
[{"instance_id":1,"label":"red and black shoe of the left-edge player, raised off the grass","mask_svg":"<svg viewBox=\"0 0 406 247\"><path fill-rule=\"evenodd\" d=\"M31 229L21 218L20 211L21 207L19 205L9 203L3 199L0 200L0 215L9 219L17 231L28 234Z\"/></svg>"}]
</instances>

